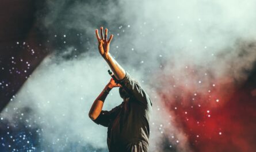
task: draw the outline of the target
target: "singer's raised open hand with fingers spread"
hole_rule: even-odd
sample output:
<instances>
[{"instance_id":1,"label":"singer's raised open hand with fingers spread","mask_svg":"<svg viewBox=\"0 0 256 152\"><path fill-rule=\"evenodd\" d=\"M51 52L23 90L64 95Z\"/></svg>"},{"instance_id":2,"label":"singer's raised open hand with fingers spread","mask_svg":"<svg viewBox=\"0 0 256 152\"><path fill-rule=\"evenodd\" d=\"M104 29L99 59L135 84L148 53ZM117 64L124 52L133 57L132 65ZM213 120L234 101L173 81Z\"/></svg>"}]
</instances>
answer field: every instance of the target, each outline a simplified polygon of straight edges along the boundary
<instances>
[{"instance_id":1,"label":"singer's raised open hand with fingers spread","mask_svg":"<svg viewBox=\"0 0 256 152\"><path fill-rule=\"evenodd\" d=\"M101 27L101 38L98 34L98 29L95 30L96 33L96 37L98 39L98 50L101 54L102 57L104 57L104 59L106 59L109 55L109 44L113 38L113 34L111 34L111 36L109 37L108 40L108 29L105 29L105 36L103 33L103 27Z\"/></svg>"}]
</instances>

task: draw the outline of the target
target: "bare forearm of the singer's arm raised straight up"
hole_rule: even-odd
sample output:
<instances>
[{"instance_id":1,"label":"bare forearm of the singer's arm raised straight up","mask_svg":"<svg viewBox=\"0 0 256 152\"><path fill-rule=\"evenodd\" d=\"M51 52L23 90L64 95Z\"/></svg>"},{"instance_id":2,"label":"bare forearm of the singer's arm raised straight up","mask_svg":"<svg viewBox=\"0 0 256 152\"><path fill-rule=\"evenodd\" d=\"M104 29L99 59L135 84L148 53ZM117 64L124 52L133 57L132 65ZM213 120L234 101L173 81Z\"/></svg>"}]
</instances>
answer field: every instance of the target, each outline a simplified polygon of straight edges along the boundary
<instances>
[{"instance_id":1,"label":"bare forearm of the singer's arm raised straight up","mask_svg":"<svg viewBox=\"0 0 256 152\"><path fill-rule=\"evenodd\" d=\"M109 53L108 56L105 57L104 59L106 60L106 63L108 63L109 67L113 71L116 79L117 80L124 79L124 77L125 77L124 69L121 67L121 65L119 65L119 63L117 63L116 60L114 60L114 58L111 56L111 54Z\"/></svg>"}]
</instances>

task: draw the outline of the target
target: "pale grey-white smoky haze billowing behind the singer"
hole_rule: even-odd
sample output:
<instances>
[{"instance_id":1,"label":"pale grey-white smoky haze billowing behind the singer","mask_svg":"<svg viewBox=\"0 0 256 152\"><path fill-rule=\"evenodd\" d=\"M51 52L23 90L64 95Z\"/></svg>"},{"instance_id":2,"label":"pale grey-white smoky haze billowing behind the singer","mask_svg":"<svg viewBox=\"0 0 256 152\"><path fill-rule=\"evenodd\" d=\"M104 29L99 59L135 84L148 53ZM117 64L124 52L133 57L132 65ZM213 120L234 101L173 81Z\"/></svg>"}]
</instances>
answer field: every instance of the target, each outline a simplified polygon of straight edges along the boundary
<instances>
[{"instance_id":1,"label":"pale grey-white smoky haze billowing behind the singer","mask_svg":"<svg viewBox=\"0 0 256 152\"><path fill-rule=\"evenodd\" d=\"M171 107L166 107L166 102L173 101L159 98L158 91L170 88L162 93L177 93L172 88L179 84L186 92L201 92L200 88L221 77L231 86L243 83L244 71L250 71L256 60L255 46L251 46L256 34L255 5L253 0L46 1L37 18L52 53L1 116L10 122L22 116L18 121L43 130L42 150L50 146L64 151L74 143L78 151L86 146L106 150L106 128L88 117L91 104L110 79L94 33L104 26L114 34L110 53L152 98L150 151L193 151ZM186 69L196 75L184 76ZM169 77L178 79L166 84ZM195 88L198 81L201 87ZM121 102L113 89L104 110ZM30 113L23 114L24 108Z\"/></svg>"}]
</instances>

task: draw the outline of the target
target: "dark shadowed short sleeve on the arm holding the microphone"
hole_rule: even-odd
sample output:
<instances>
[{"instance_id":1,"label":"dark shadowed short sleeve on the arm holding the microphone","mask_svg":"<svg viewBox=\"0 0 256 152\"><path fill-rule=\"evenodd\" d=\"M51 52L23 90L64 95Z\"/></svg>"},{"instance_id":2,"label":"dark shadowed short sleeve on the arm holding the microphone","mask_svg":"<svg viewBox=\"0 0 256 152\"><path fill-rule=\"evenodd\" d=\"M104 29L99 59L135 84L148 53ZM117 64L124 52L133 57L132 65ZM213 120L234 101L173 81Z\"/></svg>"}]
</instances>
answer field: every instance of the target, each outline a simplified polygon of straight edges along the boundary
<instances>
[{"instance_id":1,"label":"dark shadowed short sleeve on the arm holding the microphone","mask_svg":"<svg viewBox=\"0 0 256 152\"><path fill-rule=\"evenodd\" d=\"M110 111L101 110L100 115L93 120L93 122L100 124L101 126L108 127L110 124L110 121L114 118L116 118L116 114L119 110L120 106L116 106L112 108Z\"/></svg>"}]
</instances>

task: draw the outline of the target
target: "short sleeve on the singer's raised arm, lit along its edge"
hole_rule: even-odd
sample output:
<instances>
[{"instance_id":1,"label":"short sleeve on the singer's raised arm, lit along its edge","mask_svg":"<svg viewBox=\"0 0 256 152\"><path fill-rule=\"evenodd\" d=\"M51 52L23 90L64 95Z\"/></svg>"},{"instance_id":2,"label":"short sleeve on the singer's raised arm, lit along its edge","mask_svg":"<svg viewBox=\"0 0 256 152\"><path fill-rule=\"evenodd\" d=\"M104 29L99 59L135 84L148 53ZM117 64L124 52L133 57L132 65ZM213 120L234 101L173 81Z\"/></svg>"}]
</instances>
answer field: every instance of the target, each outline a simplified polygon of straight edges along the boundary
<instances>
[{"instance_id":1,"label":"short sleeve on the singer's raised arm, lit along its edge","mask_svg":"<svg viewBox=\"0 0 256 152\"><path fill-rule=\"evenodd\" d=\"M124 79L120 80L120 84L130 93L136 100L146 104L147 106L152 106L150 96L144 91L142 86L135 80L132 79L131 75L125 71Z\"/></svg>"}]
</instances>

